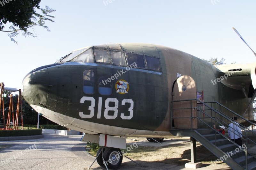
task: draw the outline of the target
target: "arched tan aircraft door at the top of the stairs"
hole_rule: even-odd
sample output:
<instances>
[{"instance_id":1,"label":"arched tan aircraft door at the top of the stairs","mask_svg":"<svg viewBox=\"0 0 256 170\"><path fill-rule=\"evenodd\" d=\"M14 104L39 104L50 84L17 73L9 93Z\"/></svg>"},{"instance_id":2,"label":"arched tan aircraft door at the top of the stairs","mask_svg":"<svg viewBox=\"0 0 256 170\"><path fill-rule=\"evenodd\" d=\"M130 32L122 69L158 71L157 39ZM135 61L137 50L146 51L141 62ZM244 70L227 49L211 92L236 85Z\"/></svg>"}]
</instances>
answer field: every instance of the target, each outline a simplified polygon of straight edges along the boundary
<instances>
[{"instance_id":1,"label":"arched tan aircraft door at the top of the stairs","mask_svg":"<svg viewBox=\"0 0 256 170\"><path fill-rule=\"evenodd\" d=\"M196 83L190 76L181 76L173 85L173 100L196 99ZM197 129L197 119L189 118L191 115L196 117L196 109L180 109L196 107L196 101L174 102L173 123L177 129ZM192 113L191 113L192 112ZM183 118L184 117L184 118ZM192 120L192 121L191 121Z\"/></svg>"}]
</instances>

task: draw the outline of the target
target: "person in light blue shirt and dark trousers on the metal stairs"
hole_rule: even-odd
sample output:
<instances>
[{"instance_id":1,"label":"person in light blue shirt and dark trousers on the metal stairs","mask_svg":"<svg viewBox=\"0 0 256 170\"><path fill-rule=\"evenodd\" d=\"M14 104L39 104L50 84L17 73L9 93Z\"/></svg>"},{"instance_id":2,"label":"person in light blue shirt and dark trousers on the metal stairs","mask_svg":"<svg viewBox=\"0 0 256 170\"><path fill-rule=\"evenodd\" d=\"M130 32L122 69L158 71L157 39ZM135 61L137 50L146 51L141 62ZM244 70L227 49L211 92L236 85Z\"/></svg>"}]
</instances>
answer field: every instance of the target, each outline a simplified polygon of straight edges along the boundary
<instances>
[{"instance_id":1,"label":"person in light blue shirt and dark trousers on the metal stairs","mask_svg":"<svg viewBox=\"0 0 256 170\"><path fill-rule=\"evenodd\" d=\"M242 131L237 125L239 125L236 120L237 117L232 117L234 123L228 125L228 137L233 140L236 144L242 146Z\"/></svg>"}]
</instances>

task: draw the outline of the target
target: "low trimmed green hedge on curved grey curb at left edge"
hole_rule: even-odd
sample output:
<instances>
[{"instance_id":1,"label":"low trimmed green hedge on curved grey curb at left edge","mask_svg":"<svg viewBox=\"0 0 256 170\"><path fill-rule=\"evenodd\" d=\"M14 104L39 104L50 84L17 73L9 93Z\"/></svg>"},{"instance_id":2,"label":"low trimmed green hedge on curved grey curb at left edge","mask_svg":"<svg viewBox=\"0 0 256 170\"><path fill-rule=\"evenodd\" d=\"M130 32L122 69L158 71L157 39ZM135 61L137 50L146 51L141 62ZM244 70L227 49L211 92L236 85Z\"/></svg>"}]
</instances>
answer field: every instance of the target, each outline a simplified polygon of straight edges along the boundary
<instances>
[{"instance_id":1,"label":"low trimmed green hedge on curved grey curb at left edge","mask_svg":"<svg viewBox=\"0 0 256 170\"><path fill-rule=\"evenodd\" d=\"M32 136L41 135L42 129L29 130L0 130L0 137Z\"/></svg>"}]
</instances>

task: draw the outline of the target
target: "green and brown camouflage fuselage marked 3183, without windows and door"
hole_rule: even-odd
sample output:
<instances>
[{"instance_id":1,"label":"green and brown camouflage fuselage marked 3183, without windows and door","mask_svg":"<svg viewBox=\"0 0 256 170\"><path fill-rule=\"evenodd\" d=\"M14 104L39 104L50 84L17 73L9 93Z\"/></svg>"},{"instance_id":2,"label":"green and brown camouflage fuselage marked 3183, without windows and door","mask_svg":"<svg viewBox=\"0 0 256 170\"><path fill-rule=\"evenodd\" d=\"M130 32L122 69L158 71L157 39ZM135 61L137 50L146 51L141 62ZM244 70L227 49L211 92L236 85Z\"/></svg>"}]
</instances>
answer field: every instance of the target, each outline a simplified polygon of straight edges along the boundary
<instances>
[{"instance_id":1,"label":"green and brown camouflage fuselage marked 3183, without windows and door","mask_svg":"<svg viewBox=\"0 0 256 170\"><path fill-rule=\"evenodd\" d=\"M134 53L159 58L161 70L134 68L134 65L129 66L127 58L126 66L99 63L95 59L91 63L59 61L35 69L24 78L26 101L46 118L70 129L90 134L145 137L172 136L169 133L170 101L173 100L173 84L179 75L195 80L196 91L204 93L204 101L218 101L240 114L249 103L250 98L244 96L244 91L221 82L212 83L223 75L222 72L195 56L152 44L120 46L121 50L117 51L124 52L125 57ZM85 70L93 72L92 94L84 92L84 88L89 87L84 86ZM99 92L102 77L109 78L102 82L111 85L110 94ZM125 82L129 89L126 85L126 92L117 92L117 87ZM252 110L246 117L252 119Z\"/></svg>"}]
</instances>

